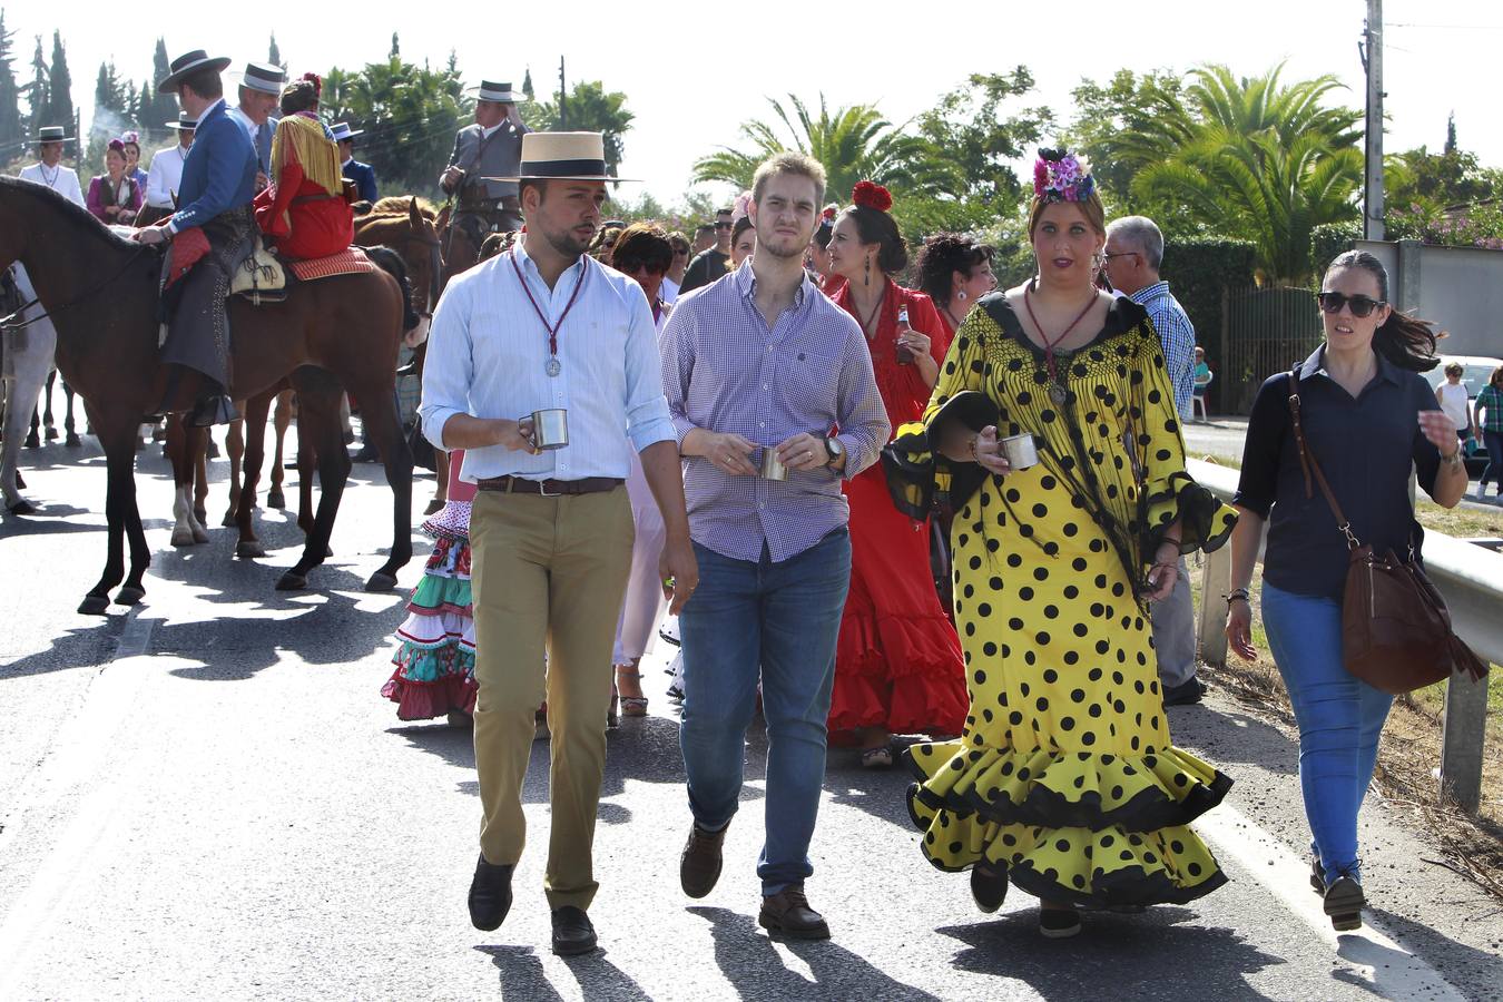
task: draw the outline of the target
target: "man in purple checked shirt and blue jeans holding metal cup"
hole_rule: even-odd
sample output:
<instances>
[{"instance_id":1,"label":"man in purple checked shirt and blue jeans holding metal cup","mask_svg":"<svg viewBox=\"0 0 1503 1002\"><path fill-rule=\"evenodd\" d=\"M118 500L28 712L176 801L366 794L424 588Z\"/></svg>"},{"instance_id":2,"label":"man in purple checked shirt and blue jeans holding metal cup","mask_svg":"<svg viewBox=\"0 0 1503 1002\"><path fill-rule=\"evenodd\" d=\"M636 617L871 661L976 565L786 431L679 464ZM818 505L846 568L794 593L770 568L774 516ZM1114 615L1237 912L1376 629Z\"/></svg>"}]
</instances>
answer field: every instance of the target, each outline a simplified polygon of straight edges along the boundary
<instances>
[{"instance_id":1,"label":"man in purple checked shirt and blue jeans holding metal cup","mask_svg":"<svg viewBox=\"0 0 1503 1002\"><path fill-rule=\"evenodd\" d=\"M694 817L679 882L699 898L720 877L761 679L768 754L758 921L825 939L804 879L851 583L840 481L878 461L890 427L860 326L803 269L824 170L780 153L758 168L752 194L756 254L682 296L658 341L700 572L679 614L679 741ZM788 479L759 476L768 451Z\"/></svg>"}]
</instances>

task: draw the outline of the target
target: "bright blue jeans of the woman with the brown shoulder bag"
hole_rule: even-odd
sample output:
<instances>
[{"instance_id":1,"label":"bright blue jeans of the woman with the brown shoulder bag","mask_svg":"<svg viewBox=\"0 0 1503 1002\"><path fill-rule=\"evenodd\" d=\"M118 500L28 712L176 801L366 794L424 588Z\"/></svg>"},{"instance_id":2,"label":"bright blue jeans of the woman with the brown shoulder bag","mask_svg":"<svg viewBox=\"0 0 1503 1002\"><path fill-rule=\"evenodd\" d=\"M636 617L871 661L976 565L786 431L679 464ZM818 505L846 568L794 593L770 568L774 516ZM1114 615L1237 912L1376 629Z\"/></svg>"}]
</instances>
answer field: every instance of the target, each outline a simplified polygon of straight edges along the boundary
<instances>
[{"instance_id":1,"label":"bright blue jeans of the woman with the brown shoulder bag","mask_svg":"<svg viewBox=\"0 0 1503 1002\"><path fill-rule=\"evenodd\" d=\"M1330 885L1357 873L1357 811L1393 697L1341 661L1341 602L1263 583L1263 626L1300 727L1305 817Z\"/></svg>"}]
</instances>

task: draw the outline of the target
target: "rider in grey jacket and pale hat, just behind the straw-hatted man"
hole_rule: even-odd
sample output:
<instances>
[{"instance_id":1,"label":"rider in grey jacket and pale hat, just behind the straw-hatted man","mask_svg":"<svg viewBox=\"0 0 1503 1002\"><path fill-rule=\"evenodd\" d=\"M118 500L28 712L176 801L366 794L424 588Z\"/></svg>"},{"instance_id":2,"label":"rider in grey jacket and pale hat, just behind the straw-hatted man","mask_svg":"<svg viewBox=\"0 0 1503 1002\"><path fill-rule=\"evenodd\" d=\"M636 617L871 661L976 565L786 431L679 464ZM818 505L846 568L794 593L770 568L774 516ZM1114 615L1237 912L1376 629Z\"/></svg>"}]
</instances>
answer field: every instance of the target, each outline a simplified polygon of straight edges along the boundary
<instances>
[{"instance_id":1,"label":"rider in grey jacket and pale hat, just behind the straw-hatted man","mask_svg":"<svg viewBox=\"0 0 1503 1002\"><path fill-rule=\"evenodd\" d=\"M464 230L476 249L490 233L522 228L517 183L496 180L517 173L522 137L528 134L517 111L522 101L528 95L511 84L482 81L475 95L475 123L455 134L449 165L439 177L446 194L458 195L454 225Z\"/></svg>"}]
</instances>

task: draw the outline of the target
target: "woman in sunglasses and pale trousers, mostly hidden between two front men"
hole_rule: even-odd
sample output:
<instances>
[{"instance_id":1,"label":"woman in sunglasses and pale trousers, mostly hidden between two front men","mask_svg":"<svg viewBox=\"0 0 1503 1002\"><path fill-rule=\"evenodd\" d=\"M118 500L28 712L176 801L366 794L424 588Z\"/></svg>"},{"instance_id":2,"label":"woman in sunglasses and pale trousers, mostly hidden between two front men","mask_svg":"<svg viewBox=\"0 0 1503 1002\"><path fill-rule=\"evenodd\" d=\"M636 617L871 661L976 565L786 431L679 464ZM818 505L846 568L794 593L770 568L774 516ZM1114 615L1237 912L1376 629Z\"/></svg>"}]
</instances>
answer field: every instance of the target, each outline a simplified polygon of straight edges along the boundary
<instances>
[{"instance_id":1,"label":"woman in sunglasses and pale trousers, mostly hidden between two front men","mask_svg":"<svg viewBox=\"0 0 1503 1002\"><path fill-rule=\"evenodd\" d=\"M621 230L610 251L610 266L642 285L658 333L669 315L661 288L663 275L672 263L673 245L655 222L633 222ZM627 593L616 620L616 696L610 703L612 720L618 712L622 717L648 715L648 699L642 693L642 656L652 646L666 601L663 581L658 578L658 554L663 553L667 530L663 527L663 514L652 500L642 461L634 454L627 475L627 497L631 500L631 520L637 535L631 545L631 575L627 578Z\"/></svg>"}]
</instances>

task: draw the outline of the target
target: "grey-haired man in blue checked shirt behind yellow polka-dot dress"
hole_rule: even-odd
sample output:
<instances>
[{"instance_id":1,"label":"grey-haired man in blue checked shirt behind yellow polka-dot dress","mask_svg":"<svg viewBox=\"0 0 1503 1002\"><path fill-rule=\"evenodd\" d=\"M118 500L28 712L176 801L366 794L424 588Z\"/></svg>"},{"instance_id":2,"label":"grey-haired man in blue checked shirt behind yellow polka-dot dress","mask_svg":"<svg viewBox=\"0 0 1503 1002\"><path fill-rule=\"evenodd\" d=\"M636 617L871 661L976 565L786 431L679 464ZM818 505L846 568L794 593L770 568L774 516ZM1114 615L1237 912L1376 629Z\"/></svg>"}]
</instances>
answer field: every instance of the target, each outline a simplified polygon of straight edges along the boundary
<instances>
[{"instance_id":1,"label":"grey-haired man in blue checked shirt behind yellow polka-dot dress","mask_svg":"<svg viewBox=\"0 0 1503 1002\"><path fill-rule=\"evenodd\" d=\"M1147 216L1127 216L1106 227L1105 272L1112 288L1142 305L1163 341L1163 362L1174 383L1180 422L1195 416L1195 326L1169 282L1159 278L1163 233ZM1153 605L1153 646L1159 652L1159 685L1165 706L1199 703L1205 684L1195 678L1195 601L1184 557L1169 598Z\"/></svg>"}]
</instances>

